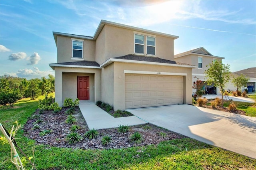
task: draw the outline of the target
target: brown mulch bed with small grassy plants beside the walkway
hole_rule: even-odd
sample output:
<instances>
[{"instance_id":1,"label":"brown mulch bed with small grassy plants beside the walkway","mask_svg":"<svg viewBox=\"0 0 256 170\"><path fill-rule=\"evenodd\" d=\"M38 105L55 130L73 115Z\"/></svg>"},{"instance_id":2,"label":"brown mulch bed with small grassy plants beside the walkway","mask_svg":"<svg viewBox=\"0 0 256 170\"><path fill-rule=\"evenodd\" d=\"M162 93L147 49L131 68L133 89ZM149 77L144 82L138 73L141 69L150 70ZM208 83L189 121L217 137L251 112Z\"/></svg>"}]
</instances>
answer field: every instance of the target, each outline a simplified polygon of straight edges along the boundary
<instances>
[{"instance_id":1,"label":"brown mulch bed with small grassy plants beside the walkway","mask_svg":"<svg viewBox=\"0 0 256 170\"><path fill-rule=\"evenodd\" d=\"M81 149L102 149L102 148L128 148L132 146L145 146L150 144L158 144L164 140L172 140L177 138L185 138L182 134L166 130L164 128L156 127L151 124L131 126L129 131L126 133L118 132L118 128L108 128L98 130L99 135L96 139L89 140L84 138L82 142L77 144L67 144L66 136L69 134L72 125L65 123L68 115L65 111L68 108L63 108L60 113L53 113L52 111L44 111L44 113L39 114L37 110L31 119L29 119L24 125L24 135L28 138L34 139L37 144L48 144L50 146L65 147L65 148L81 148ZM92 113L93 114L93 113ZM39 115L39 118L33 118L35 115ZM76 113L73 115L76 118L76 123L73 125L78 125L80 129L77 131L78 134L84 135L88 130L88 126L80 109L76 107ZM42 122L36 124L35 122L40 119ZM39 125L39 129L34 129L35 125ZM40 136L40 132L43 130L52 130L51 134L46 134L45 136ZM142 142L140 144L134 144L130 142L130 136L134 132L139 132L142 135ZM166 133L165 137L160 136L160 132ZM107 146L102 145L101 140L103 136L110 136L112 141Z\"/></svg>"}]
</instances>

